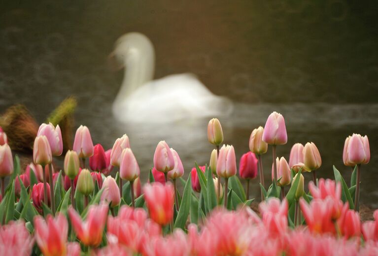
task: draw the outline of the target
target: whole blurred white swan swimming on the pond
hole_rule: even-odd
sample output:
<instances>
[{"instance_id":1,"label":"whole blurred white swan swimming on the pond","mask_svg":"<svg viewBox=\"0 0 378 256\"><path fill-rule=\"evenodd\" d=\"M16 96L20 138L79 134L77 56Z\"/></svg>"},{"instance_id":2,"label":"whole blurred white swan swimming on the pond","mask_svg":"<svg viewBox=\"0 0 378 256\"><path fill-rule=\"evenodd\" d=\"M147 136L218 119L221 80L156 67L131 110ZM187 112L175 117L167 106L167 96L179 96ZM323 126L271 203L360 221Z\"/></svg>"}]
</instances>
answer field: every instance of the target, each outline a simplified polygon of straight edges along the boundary
<instances>
[{"instance_id":1,"label":"whole blurred white swan swimming on the pond","mask_svg":"<svg viewBox=\"0 0 378 256\"><path fill-rule=\"evenodd\" d=\"M112 56L125 67L121 89L113 102L113 114L121 122L172 122L232 111L229 99L213 95L193 74L152 80L155 52L141 33L121 36Z\"/></svg>"}]
</instances>

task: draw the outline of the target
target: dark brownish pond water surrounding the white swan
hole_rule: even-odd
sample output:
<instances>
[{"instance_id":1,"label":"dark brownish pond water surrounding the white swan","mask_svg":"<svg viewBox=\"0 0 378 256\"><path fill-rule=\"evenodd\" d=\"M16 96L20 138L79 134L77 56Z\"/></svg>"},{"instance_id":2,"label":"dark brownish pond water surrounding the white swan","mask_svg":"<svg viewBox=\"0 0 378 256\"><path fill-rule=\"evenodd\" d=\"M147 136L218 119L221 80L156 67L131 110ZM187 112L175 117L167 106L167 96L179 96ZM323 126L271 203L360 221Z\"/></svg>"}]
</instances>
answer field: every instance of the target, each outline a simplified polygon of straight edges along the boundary
<instances>
[{"instance_id":1,"label":"dark brownish pond water surrounding the white swan","mask_svg":"<svg viewBox=\"0 0 378 256\"><path fill-rule=\"evenodd\" d=\"M361 197L378 207L377 10L373 0L5 1L0 111L23 103L43 122L75 95L77 126L87 125L105 148L127 133L144 177L161 139L176 149L187 173L195 160L208 162L208 120L155 126L112 118L123 74L109 70L107 56L120 35L142 32L155 46L156 78L192 72L236 103L221 122L238 158L248 150L252 129L275 110L284 115L289 138L277 148L279 156L288 159L292 144L313 141L323 160L318 176L332 177L335 164L348 181L344 139L367 134L372 159L362 167ZM263 161L268 182L271 151ZM252 193L259 195L257 181Z\"/></svg>"}]
</instances>

